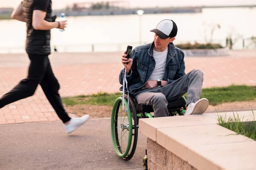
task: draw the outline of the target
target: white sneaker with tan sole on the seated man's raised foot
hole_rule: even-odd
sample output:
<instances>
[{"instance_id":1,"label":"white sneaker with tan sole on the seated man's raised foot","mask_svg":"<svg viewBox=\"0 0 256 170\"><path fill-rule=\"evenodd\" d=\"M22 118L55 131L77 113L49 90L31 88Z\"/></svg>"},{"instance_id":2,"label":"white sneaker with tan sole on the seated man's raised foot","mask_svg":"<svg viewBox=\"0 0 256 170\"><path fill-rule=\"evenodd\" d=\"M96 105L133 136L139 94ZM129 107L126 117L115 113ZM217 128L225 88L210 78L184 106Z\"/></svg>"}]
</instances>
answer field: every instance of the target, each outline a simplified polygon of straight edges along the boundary
<instances>
[{"instance_id":1,"label":"white sneaker with tan sole on the seated man's raised foot","mask_svg":"<svg viewBox=\"0 0 256 170\"><path fill-rule=\"evenodd\" d=\"M208 105L209 101L206 98L201 98L197 102L189 104L184 115L203 114L207 110Z\"/></svg>"}]
</instances>

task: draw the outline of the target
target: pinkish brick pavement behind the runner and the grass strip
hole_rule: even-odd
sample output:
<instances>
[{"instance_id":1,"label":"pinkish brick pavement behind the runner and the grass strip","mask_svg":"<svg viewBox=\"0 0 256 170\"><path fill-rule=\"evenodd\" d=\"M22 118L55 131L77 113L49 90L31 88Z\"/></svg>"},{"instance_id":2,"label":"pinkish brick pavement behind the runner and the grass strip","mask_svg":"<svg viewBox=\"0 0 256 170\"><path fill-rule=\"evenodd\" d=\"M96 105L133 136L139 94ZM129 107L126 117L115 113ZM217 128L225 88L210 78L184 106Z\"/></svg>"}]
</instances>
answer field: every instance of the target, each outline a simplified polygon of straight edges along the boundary
<instances>
[{"instance_id":1,"label":"pinkish brick pavement behind the runner and the grass strip","mask_svg":"<svg viewBox=\"0 0 256 170\"><path fill-rule=\"evenodd\" d=\"M55 76L61 85L60 95L90 95L119 92L118 75L123 68L120 54L55 53L50 56ZM186 72L201 69L203 87L231 84L256 85L256 50L231 51L224 57L186 57ZM0 95L26 78L29 60L26 55L0 55ZM32 97L0 109L0 124L58 121L59 118L40 86Z\"/></svg>"}]
</instances>

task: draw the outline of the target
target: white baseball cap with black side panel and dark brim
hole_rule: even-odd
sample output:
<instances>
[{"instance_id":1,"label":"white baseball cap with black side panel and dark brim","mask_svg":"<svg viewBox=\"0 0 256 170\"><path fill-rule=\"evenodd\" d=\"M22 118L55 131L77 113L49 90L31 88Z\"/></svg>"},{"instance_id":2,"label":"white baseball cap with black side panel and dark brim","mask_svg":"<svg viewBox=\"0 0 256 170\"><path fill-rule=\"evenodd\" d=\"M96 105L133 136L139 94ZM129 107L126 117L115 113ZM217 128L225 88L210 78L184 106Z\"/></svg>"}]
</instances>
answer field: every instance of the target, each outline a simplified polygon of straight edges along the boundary
<instances>
[{"instance_id":1,"label":"white baseball cap with black side panel and dark brim","mask_svg":"<svg viewBox=\"0 0 256 170\"><path fill-rule=\"evenodd\" d=\"M156 33L162 39L175 37L177 31L177 25L173 20L162 20L157 24L157 28L151 30L151 32Z\"/></svg>"}]
</instances>

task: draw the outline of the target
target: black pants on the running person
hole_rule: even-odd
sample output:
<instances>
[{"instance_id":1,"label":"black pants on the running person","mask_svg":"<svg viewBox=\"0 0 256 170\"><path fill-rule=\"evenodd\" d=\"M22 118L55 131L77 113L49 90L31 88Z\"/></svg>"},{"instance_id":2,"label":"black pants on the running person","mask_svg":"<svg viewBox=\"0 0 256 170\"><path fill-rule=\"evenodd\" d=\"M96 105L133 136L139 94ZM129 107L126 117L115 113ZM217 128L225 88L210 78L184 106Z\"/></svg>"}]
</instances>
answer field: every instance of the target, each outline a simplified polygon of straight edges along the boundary
<instances>
[{"instance_id":1,"label":"black pants on the running person","mask_svg":"<svg viewBox=\"0 0 256 170\"><path fill-rule=\"evenodd\" d=\"M65 112L61 97L58 94L60 85L52 72L48 55L29 55L29 60L28 77L20 81L10 92L0 98L0 108L20 99L32 96L38 84L40 84L58 117L63 123L70 121L70 117L67 115L67 112Z\"/></svg>"}]
</instances>

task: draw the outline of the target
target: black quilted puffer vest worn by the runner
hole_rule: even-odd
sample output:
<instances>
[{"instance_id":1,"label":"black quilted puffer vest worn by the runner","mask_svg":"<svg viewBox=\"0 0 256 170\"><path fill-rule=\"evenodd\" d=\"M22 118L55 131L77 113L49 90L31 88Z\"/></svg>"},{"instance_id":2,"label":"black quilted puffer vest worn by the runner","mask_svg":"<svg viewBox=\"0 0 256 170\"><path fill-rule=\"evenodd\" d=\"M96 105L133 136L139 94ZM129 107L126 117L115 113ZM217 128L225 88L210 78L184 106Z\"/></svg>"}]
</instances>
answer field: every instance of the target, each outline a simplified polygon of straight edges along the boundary
<instances>
[{"instance_id":1,"label":"black quilted puffer vest worn by the runner","mask_svg":"<svg viewBox=\"0 0 256 170\"><path fill-rule=\"evenodd\" d=\"M32 26L34 0L23 0L22 11L26 20L27 37L26 37L26 52L29 55L49 55L51 53L51 30L35 30ZM47 14L44 20L54 22L52 17L52 1L49 1Z\"/></svg>"}]
</instances>

